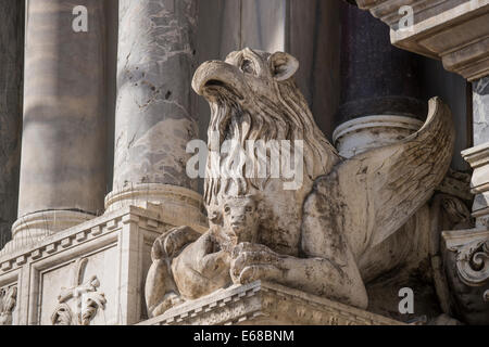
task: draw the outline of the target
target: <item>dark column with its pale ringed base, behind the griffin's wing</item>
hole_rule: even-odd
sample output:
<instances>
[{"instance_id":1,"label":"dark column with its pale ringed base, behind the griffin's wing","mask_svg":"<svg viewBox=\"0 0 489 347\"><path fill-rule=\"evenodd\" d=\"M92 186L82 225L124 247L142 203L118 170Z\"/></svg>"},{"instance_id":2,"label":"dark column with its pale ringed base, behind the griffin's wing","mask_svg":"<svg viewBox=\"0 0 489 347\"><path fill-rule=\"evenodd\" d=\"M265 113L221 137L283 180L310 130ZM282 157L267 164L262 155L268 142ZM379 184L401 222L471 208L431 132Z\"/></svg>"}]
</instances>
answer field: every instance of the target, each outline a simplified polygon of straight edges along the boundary
<instances>
[{"instance_id":1,"label":"dark column with its pale ringed base, behind the griffin's wing","mask_svg":"<svg viewBox=\"0 0 489 347\"><path fill-rule=\"evenodd\" d=\"M333 140L340 154L396 142L422 126L417 57L390 44L389 27L341 3L341 95Z\"/></svg>"}]
</instances>

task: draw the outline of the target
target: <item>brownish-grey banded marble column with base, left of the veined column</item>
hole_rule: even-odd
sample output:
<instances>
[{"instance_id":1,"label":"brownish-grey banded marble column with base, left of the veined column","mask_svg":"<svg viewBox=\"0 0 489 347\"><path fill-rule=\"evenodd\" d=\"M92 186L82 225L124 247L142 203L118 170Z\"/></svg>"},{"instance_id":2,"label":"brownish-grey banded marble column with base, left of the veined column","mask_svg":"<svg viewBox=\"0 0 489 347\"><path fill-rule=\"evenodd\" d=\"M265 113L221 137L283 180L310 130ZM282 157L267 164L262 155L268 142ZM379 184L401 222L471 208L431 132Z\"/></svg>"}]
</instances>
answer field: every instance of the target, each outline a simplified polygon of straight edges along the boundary
<instances>
[{"instance_id":1,"label":"brownish-grey banded marble column with base, left of the veined column","mask_svg":"<svg viewBox=\"0 0 489 347\"><path fill-rule=\"evenodd\" d=\"M88 31L73 22L85 7ZM13 246L103 211L104 3L27 0L18 219ZM83 13L83 12L82 12ZM79 20L79 17L78 17ZM83 18L84 20L84 18Z\"/></svg>"}]
</instances>

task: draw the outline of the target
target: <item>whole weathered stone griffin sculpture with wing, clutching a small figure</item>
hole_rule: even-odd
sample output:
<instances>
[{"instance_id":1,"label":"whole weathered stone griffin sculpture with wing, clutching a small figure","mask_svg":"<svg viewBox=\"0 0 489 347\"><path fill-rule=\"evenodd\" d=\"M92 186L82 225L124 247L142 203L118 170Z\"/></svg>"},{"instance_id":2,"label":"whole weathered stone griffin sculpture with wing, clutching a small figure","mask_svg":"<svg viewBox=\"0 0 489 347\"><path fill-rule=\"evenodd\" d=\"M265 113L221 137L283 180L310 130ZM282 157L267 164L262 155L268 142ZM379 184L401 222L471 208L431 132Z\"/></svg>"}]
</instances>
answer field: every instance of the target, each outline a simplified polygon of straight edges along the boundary
<instances>
[{"instance_id":1,"label":"whole weathered stone griffin sculpture with wing, clutching a small figure","mask_svg":"<svg viewBox=\"0 0 489 347\"><path fill-rule=\"evenodd\" d=\"M255 280L366 308L364 280L391 270L405 257L397 250L417 242L408 234L386 246L448 170L454 145L449 108L432 99L417 132L344 159L316 126L293 80L298 68L287 53L244 49L196 72L192 87L212 111L204 185L210 228L203 234L175 228L154 243L146 283L151 317ZM302 140L302 185L285 190L287 179L269 175L213 175L213 157L221 170L230 165L218 149L229 139Z\"/></svg>"}]
</instances>

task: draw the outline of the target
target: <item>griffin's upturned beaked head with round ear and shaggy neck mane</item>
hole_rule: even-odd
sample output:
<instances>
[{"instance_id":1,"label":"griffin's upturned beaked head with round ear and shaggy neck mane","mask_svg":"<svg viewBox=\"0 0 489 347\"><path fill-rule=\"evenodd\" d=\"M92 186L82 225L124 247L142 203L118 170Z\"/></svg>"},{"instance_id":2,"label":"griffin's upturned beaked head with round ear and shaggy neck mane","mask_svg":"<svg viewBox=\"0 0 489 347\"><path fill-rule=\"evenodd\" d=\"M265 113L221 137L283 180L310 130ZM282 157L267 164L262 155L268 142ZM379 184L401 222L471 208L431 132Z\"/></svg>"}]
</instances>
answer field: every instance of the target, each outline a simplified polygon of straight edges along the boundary
<instances>
[{"instance_id":1,"label":"griffin's upturned beaked head with round ear and shaggy neck mane","mask_svg":"<svg viewBox=\"0 0 489 347\"><path fill-rule=\"evenodd\" d=\"M302 140L304 177L312 181L329 172L339 157L316 126L297 87L293 76L298 69L299 62L288 53L249 48L230 53L225 62L203 63L195 74L192 87L211 106L210 150L218 151L215 143L221 145L224 140L238 141L243 147L248 140ZM216 136L218 142L213 142ZM249 185L264 189L263 182L246 179L239 184L244 187L238 190L240 194L248 194ZM206 180L208 202L220 187L221 182Z\"/></svg>"}]
</instances>

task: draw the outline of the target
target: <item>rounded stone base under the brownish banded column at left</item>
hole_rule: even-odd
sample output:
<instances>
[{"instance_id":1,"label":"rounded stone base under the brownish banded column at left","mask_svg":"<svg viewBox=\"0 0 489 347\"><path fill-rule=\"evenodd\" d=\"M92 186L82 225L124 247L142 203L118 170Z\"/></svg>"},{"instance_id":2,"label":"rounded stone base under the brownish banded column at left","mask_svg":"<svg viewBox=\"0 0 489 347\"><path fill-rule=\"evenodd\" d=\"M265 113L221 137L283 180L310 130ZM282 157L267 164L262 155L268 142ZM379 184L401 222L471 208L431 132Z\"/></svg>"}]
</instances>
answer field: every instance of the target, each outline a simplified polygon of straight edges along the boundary
<instances>
[{"instance_id":1,"label":"rounded stone base under the brownish banded column at left","mask_svg":"<svg viewBox=\"0 0 489 347\"><path fill-rule=\"evenodd\" d=\"M47 210L18 218L12 226L12 241L0 255L32 247L46 236L75 227L96 216L73 210Z\"/></svg>"}]
</instances>

